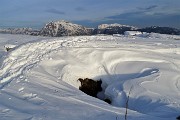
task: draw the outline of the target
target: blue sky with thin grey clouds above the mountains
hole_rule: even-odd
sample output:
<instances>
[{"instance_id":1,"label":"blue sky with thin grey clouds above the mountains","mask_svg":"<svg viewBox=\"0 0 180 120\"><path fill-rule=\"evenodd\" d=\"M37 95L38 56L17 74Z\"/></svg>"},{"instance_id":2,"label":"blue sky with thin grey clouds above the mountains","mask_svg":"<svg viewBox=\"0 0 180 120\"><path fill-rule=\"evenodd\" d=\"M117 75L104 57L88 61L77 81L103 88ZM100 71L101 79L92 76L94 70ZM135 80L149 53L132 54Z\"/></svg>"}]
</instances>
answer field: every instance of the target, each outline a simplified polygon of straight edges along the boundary
<instances>
[{"instance_id":1,"label":"blue sky with thin grey clouds above the mountains","mask_svg":"<svg viewBox=\"0 0 180 120\"><path fill-rule=\"evenodd\" d=\"M0 27L42 27L67 20L180 28L180 0L0 0Z\"/></svg>"}]
</instances>

